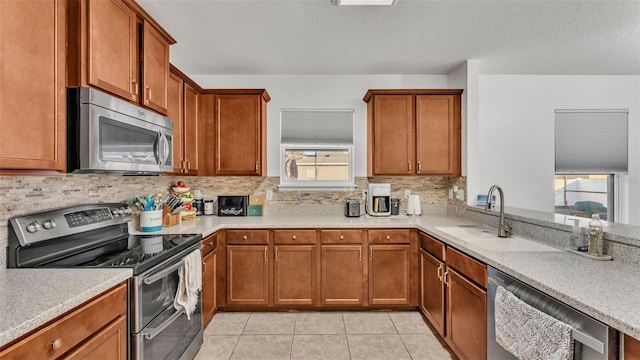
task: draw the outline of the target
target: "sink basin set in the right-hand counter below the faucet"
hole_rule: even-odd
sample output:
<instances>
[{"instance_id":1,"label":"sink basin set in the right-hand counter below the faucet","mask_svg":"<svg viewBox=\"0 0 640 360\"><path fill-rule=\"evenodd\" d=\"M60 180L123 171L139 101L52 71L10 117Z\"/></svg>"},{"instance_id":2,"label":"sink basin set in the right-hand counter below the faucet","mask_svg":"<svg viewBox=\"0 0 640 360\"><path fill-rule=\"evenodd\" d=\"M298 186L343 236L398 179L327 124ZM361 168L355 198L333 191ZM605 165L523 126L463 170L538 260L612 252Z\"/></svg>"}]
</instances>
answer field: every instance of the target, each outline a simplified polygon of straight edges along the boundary
<instances>
[{"instance_id":1,"label":"sink basin set in the right-hand counter below the faucet","mask_svg":"<svg viewBox=\"0 0 640 360\"><path fill-rule=\"evenodd\" d=\"M482 225L436 226L436 229L491 251L562 251L517 235L501 238L495 229Z\"/></svg>"}]
</instances>

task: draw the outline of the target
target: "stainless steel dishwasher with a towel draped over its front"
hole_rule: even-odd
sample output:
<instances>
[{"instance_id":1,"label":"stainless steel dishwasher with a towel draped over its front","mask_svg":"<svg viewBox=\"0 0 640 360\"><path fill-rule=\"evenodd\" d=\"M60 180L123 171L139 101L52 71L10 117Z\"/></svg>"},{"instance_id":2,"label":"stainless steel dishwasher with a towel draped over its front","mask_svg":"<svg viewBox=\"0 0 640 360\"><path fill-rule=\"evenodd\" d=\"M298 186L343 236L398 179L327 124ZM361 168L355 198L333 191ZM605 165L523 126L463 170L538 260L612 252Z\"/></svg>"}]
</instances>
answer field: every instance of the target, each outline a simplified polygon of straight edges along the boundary
<instances>
[{"instance_id":1,"label":"stainless steel dishwasher with a towel draped over its front","mask_svg":"<svg viewBox=\"0 0 640 360\"><path fill-rule=\"evenodd\" d=\"M615 346L611 346L609 342L613 340L615 343L613 328L609 328L609 326L491 266L487 268L489 270L487 286L488 359L516 359L496 341L495 298L498 286L507 289L526 304L570 325L573 329L571 332L574 339L574 359L614 359L616 357Z\"/></svg>"}]
</instances>

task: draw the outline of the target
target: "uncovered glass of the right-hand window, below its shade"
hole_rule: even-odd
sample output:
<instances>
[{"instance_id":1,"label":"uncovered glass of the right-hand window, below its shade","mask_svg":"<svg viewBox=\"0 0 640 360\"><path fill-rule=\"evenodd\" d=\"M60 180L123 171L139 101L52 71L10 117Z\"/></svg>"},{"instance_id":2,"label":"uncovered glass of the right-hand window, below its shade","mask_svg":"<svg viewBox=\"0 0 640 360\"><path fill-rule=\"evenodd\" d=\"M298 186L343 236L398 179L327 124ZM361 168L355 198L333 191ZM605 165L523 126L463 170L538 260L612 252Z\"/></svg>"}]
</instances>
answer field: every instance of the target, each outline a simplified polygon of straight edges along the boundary
<instances>
[{"instance_id":1,"label":"uncovered glass of the right-hand window, below its shade","mask_svg":"<svg viewBox=\"0 0 640 360\"><path fill-rule=\"evenodd\" d=\"M613 221L614 175L556 175L555 213Z\"/></svg>"}]
</instances>

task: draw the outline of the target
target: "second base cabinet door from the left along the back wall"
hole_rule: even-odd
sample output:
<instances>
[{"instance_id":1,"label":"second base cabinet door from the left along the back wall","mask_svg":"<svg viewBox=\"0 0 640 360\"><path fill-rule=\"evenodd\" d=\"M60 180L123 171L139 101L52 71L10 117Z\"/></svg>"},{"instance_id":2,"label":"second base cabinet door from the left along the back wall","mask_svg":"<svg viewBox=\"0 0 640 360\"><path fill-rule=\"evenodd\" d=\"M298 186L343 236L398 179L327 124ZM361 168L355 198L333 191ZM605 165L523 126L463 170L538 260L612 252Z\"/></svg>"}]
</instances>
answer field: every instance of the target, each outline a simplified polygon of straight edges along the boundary
<instances>
[{"instance_id":1,"label":"second base cabinet door from the left along the back wall","mask_svg":"<svg viewBox=\"0 0 640 360\"><path fill-rule=\"evenodd\" d=\"M274 248L275 305L316 303L316 246L278 245Z\"/></svg>"}]
</instances>

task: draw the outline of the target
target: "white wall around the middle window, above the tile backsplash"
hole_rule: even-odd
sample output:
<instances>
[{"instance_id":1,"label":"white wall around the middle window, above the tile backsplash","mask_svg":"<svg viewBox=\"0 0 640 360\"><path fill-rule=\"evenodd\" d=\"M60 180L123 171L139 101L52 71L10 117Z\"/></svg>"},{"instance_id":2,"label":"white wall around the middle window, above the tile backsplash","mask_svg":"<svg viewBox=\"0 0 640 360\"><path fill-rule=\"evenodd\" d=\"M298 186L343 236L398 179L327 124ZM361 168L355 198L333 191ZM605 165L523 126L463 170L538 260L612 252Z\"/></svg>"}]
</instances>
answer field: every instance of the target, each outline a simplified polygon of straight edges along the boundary
<instances>
[{"instance_id":1,"label":"white wall around the middle window, above the tile backsplash","mask_svg":"<svg viewBox=\"0 0 640 360\"><path fill-rule=\"evenodd\" d=\"M369 89L447 88L446 75L190 75L203 88L267 89L267 176L279 176L280 109L355 109L355 176L367 174Z\"/></svg>"}]
</instances>

